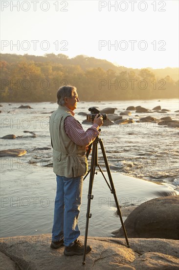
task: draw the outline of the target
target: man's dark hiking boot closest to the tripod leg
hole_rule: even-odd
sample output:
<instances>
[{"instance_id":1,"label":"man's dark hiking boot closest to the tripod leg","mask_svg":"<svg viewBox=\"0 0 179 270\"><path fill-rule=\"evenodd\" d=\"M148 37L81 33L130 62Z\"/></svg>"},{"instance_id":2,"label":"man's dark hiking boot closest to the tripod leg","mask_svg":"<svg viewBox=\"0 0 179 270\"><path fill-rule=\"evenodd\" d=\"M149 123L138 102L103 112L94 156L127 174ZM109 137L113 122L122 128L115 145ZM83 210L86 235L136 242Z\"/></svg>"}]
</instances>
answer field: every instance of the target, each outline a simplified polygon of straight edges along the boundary
<instances>
[{"instance_id":1,"label":"man's dark hiking boot closest to the tripod leg","mask_svg":"<svg viewBox=\"0 0 179 270\"><path fill-rule=\"evenodd\" d=\"M91 251L90 245L87 245L86 248L86 254ZM66 256L73 256L73 255L83 255L84 252L84 245L82 244L81 241L76 239L74 243L70 246L66 246L64 249L64 255Z\"/></svg>"}]
</instances>

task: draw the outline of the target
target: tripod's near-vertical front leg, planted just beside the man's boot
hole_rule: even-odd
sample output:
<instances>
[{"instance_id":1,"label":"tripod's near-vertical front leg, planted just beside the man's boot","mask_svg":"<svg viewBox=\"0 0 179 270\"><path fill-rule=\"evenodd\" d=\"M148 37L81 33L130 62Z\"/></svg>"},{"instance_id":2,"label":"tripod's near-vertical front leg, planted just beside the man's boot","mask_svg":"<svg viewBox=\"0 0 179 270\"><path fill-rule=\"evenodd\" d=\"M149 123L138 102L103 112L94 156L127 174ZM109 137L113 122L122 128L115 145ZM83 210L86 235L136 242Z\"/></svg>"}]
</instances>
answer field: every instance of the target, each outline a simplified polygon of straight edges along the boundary
<instances>
[{"instance_id":1,"label":"tripod's near-vertical front leg, planted just beside the man's boot","mask_svg":"<svg viewBox=\"0 0 179 270\"><path fill-rule=\"evenodd\" d=\"M92 147L91 167L90 167L90 181L89 181L89 191L88 191L87 220L86 220L85 242L84 242L84 253L83 253L83 264L85 264L89 218L91 217L91 214L90 214L90 202L93 199L93 195L91 193L92 193L92 185L93 185L94 172L95 172L96 151L97 151L97 140L93 142L93 147Z\"/></svg>"}]
</instances>

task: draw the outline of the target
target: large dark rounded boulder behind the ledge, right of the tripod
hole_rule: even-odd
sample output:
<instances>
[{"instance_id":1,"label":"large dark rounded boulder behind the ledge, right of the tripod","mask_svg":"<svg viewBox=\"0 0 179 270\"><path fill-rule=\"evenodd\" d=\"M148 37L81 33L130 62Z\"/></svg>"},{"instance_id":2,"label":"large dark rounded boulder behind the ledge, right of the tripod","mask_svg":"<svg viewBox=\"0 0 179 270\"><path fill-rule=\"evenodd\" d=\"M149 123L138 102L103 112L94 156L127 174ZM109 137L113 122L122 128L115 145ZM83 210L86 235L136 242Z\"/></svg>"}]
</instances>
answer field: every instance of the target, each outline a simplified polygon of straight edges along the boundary
<instances>
[{"instance_id":1,"label":"large dark rounded boulder behind the ledge, right of the tripod","mask_svg":"<svg viewBox=\"0 0 179 270\"><path fill-rule=\"evenodd\" d=\"M128 237L179 240L179 195L142 203L124 222ZM122 227L113 232L123 236Z\"/></svg>"}]
</instances>

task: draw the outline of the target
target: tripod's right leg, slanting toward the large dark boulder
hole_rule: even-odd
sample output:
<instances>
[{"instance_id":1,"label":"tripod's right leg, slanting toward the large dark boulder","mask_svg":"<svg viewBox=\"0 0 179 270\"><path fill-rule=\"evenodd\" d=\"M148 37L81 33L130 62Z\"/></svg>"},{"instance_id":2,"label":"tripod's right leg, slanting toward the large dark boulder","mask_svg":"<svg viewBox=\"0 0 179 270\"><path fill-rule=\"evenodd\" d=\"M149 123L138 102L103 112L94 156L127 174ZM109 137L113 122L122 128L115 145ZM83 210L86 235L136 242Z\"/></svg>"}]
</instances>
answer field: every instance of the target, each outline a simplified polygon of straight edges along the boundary
<instances>
[{"instance_id":1,"label":"tripod's right leg, slanting toward the large dark boulder","mask_svg":"<svg viewBox=\"0 0 179 270\"><path fill-rule=\"evenodd\" d=\"M130 247L128 237L127 237L127 233L126 233L126 229L125 229L125 226L124 226L124 223L123 223L123 220L122 220L121 211L120 211L119 204L118 204L118 201L117 201L117 197L116 197L116 193L115 193L115 189L114 189L114 185L113 185L113 181L112 181L112 175L111 175L110 167L109 167L109 164L108 164L108 160L107 160L107 157L106 157L106 152L105 152L102 140L100 140L99 143L100 143L100 146L101 146L104 162L105 162L105 165L106 165L108 177L109 177L110 184L111 184L111 193L114 196L115 204L116 204L116 207L117 207L117 212L118 212L119 217L120 217L120 221L121 221L121 225L122 225L122 228L123 228L123 232L124 232L124 236L125 236L125 239L126 239L127 246Z\"/></svg>"}]
</instances>

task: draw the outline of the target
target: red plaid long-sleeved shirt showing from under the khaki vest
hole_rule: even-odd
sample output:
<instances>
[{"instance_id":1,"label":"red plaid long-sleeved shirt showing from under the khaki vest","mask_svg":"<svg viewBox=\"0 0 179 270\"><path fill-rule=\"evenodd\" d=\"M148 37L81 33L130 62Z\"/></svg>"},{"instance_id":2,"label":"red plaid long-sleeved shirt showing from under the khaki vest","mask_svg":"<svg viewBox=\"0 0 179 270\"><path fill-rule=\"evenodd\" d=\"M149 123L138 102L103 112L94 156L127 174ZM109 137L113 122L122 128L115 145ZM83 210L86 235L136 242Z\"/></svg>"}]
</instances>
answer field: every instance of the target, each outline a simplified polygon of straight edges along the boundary
<instances>
[{"instance_id":1,"label":"red plaid long-sleeved shirt showing from under the khaki vest","mask_svg":"<svg viewBox=\"0 0 179 270\"><path fill-rule=\"evenodd\" d=\"M66 106L64 106L66 107ZM67 107L66 107L67 108ZM98 124L93 124L87 131L84 131L81 124L73 117L75 113L67 108L72 116L65 118L65 132L68 137L77 145L87 146L99 135Z\"/></svg>"}]
</instances>

